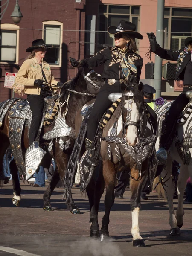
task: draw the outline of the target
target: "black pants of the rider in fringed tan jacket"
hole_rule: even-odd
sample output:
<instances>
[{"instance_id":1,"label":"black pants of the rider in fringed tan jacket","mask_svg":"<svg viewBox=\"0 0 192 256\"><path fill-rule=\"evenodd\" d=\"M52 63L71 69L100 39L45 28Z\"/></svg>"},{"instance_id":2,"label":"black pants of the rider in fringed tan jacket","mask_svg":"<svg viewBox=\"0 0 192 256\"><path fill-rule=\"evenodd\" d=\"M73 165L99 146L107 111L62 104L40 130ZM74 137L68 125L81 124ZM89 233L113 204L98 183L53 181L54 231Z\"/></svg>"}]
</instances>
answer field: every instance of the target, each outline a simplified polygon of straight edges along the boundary
<instances>
[{"instance_id":1,"label":"black pants of the rider in fringed tan jacket","mask_svg":"<svg viewBox=\"0 0 192 256\"><path fill-rule=\"evenodd\" d=\"M29 130L29 144L32 144L38 134L38 129L41 124L44 109L44 98L46 96L40 95L27 95L27 101L32 111L32 121Z\"/></svg>"}]
</instances>

